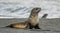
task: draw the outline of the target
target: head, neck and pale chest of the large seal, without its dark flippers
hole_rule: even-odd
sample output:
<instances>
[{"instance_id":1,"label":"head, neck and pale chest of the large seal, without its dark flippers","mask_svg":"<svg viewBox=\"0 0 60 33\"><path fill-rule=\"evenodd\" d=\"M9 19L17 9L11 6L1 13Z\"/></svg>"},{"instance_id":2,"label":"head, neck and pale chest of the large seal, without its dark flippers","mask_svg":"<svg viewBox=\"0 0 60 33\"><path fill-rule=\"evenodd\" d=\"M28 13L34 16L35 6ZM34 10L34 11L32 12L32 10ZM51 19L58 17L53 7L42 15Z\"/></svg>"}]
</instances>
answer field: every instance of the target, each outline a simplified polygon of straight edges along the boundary
<instances>
[{"instance_id":1,"label":"head, neck and pale chest of the large seal, without its dark flippers","mask_svg":"<svg viewBox=\"0 0 60 33\"><path fill-rule=\"evenodd\" d=\"M31 23L32 25L36 25L39 22L38 19L38 13L40 12L41 8L33 8L31 11L31 14L29 16L29 23Z\"/></svg>"}]
</instances>

